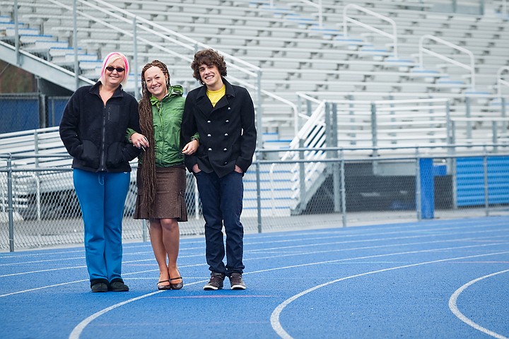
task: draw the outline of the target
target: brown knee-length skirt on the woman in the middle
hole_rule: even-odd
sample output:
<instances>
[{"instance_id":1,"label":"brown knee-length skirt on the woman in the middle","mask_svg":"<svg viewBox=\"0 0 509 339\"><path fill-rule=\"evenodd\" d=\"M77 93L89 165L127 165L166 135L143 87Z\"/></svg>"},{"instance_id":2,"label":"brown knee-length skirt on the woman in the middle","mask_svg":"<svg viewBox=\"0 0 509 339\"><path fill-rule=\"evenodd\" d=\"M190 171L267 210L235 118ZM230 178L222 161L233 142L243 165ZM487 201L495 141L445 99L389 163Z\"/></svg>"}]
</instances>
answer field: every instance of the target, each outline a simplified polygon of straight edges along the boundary
<instances>
[{"instance_id":1,"label":"brown knee-length skirt on the woman in the middle","mask_svg":"<svg viewBox=\"0 0 509 339\"><path fill-rule=\"evenodd\" d=\"M144 196L143 182L141 181L141 167L136 173L138 195L136 196L136 210L134 219L177 219L187 221L185 203L186 176L185 167L156 167L156 199L152 214L148 215Z\"/></svg>"}]
</instances>

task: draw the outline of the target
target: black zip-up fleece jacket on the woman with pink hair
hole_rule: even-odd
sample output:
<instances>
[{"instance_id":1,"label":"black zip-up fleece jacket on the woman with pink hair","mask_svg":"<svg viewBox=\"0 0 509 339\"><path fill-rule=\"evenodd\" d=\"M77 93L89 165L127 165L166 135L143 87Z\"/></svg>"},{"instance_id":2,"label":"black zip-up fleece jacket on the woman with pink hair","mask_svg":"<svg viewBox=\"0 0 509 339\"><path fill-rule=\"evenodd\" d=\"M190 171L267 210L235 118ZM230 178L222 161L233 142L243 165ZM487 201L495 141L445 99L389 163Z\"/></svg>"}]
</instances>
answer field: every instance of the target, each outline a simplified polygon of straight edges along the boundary
<instances>
[{"instance_id":1,"label":"black zip-up fleece jacket on the woman with pink hair","mask_svg":"<svg viewBox=\"0 0 509 339\"><path fill-rule=\"evenodd\" d=\"M130 172L129 161L140 150L126 138L127 128L140 131L138 102L119 86L103 104L100 81L78 88L60 121L60 138L74 157L72 167L89 172Z\"/></svg>"}]
</instances>

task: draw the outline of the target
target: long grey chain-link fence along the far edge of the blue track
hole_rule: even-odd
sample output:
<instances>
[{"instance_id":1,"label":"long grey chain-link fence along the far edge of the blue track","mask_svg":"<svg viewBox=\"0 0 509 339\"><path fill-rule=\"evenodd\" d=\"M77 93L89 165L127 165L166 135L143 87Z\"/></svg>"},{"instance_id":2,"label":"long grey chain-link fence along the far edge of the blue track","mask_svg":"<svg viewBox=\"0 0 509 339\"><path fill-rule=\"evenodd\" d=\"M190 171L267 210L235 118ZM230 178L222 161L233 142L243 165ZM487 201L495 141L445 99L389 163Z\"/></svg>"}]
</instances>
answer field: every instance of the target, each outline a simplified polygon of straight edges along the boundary
<instances>
[{"instance_id":1,"label":"long grey chain-link fence along the far edge of the blue track","mask_svg":"<svg viewBox=\"0 0 509 339\"><path fill-rule=\"evenodd\" d=\"M376 158L358 155L358 149L328 148L318 152L328 157L315 160L262 160L267 153L257 153L259 160L245 174L246 232L509 215L507 145ZM0 186L0 251L83 243L72 169L7 165L0 168ZM133 164L122 237L147 241L146 223L132 218L135 199ZM192 174L186 202L189 221L180 222L182 236L203 234Z\"/></svg>"}]
</instances>

